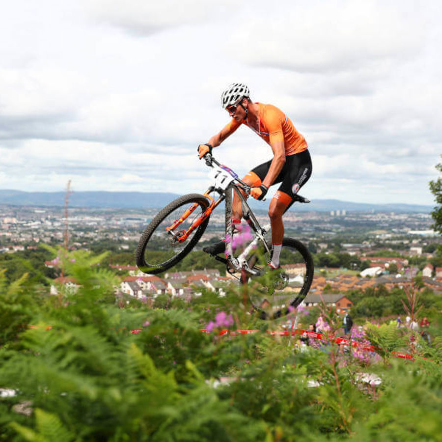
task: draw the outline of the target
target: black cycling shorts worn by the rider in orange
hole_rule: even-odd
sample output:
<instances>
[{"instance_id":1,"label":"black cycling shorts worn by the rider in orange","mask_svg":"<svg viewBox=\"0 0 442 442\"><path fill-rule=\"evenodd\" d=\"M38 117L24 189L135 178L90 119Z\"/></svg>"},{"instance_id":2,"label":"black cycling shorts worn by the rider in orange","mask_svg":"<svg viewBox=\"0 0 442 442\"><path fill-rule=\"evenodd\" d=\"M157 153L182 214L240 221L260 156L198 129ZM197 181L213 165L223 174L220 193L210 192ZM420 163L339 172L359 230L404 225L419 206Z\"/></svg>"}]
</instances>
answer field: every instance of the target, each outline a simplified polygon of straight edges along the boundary
<instances>
[{"instance_id":1,"label":"black cycling shorts worn by the rider in orange","mask_svg":"<svg viewBox=\"0 0 442 442\"><path fill-rule=\"evenodd\" d=\"M256 166L252 172L256 173L260 180L263 181L271 164L272 160ZM291 203L293 203L294 195L298 193L308 178L310 178L311 170L311 158L308 150L285 157L285 164L273 182L273 184L281 183L276 194L278 192L287 194L291 198Z\"/></svg>"}]
</instances>

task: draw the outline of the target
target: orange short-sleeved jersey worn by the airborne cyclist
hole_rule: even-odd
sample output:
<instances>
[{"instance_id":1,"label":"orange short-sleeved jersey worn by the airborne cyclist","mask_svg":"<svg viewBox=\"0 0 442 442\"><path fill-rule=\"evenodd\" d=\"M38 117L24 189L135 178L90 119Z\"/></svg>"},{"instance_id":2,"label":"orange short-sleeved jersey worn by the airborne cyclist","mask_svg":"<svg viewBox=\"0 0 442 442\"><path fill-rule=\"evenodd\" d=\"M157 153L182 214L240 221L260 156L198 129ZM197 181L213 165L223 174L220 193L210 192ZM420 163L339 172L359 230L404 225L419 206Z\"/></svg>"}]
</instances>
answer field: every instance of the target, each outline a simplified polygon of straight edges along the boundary
<instances>
[{"instance_id":1,"label":"orange short-sleeved jersey worn by the airborne cyclist","mask_svg":"<svg viewBox=\"0 0 442 442\"><path fill-rule=\"evenodd\" d=\"M258 130L249 125L247 119L241 123L232 118L226 126L230 132L236 131L241 124L258 134L267 144L284 141L285 155L294 155L307 149L305 138L295 129L290 119L272 105L256 103L259 106Z\"/></svg>"}]
</instances>

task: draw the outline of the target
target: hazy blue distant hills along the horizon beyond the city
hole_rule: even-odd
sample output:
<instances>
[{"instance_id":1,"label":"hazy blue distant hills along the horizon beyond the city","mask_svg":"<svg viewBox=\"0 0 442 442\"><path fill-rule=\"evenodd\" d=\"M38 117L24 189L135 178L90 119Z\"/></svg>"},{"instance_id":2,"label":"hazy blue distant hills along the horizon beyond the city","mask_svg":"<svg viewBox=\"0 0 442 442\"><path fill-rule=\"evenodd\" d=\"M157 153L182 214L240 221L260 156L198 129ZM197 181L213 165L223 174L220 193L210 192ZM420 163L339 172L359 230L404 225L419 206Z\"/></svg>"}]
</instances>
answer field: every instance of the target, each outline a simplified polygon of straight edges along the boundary
<instances>
[{"instance_id":1,"label":"hazy blue distant hills along the horizon beyond the city","mask_svg":"<svg viewBox=\"0 0 442 442\"><path fill-rule=\"evenodd\" d=\"M73 192L69 196L70 207L145 209L161 208L177 198L175 193L161 192ZM64 192L22 192L0 190L0 204L15 206L63 206ZM251 201L256 210L267 210L268 201L264 204ZM367 204L337 199L315 199L309 204L295 204L299 211L330 212L346 210L347 212L396 212L396 213L430 213L433 206L418 204Z\"/></svg>"}]
</instances>

